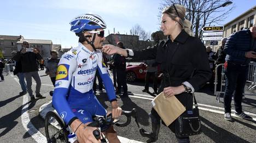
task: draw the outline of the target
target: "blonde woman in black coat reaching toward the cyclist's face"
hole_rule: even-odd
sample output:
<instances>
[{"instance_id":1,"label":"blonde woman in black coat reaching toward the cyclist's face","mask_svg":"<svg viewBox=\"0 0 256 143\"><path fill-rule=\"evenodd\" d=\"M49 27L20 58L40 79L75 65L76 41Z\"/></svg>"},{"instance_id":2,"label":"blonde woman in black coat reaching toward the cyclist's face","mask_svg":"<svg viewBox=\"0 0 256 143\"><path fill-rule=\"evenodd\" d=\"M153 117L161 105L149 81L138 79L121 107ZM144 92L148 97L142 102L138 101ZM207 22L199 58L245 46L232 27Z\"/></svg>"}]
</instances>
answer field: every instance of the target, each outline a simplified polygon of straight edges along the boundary
<instances>
[{"instance_id":1,"label":"blonde woman in black coat reaching toward the cyclist's face","mask_svg":"<svg viewBox=\"0 0 256 143\"><path fill-rule=\"evenodd\" d=\"M102 50L108 54L118 53L133 59L155 59L165 75L159 91L163 91L167 98L176 96L187 110L192 110L192 93L211 78L211 71L206 48L199 38L190 36L191 23L184 17L185 8L182 5L176 4L164 9L161 30L168 39L161 41L158 47L133 51L106 45ZM149 115L153 132L147 142L154 142L158 139L161 118L154 108ZM175 122L168 127L175 133ZM176 138L178 142L189 142L189 136Z\"/></svg>"}]
</instances>

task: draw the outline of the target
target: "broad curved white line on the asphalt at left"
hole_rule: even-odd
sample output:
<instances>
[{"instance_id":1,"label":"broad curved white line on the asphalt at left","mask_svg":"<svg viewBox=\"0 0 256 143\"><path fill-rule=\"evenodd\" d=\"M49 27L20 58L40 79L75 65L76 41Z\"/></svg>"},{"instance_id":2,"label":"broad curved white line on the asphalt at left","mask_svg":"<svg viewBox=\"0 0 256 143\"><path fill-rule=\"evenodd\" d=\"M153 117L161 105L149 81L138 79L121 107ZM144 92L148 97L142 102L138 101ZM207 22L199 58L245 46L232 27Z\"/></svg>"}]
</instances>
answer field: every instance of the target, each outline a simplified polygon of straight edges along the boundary
<instances>
[{"instance_id":1,"label":"broad curved white line on the asphalt at left","mask_svg":"<svg viewBox=\"0 0 256 143\"><path fill-rule=\"evenodd\" d=\"M12 76L12 74L10 74ZM14 76L12 76L14 77ZM15 81L19 83L17 78L14 78ZM33 124L30 122L30 116L27 113L28 109L28 94L23 96L22 110L21 110L21 121L22 126L27 130L27 132L32 136L32 138L37 142L47 142L45 136L37 130Z\"/></svg>"}]
</instances>

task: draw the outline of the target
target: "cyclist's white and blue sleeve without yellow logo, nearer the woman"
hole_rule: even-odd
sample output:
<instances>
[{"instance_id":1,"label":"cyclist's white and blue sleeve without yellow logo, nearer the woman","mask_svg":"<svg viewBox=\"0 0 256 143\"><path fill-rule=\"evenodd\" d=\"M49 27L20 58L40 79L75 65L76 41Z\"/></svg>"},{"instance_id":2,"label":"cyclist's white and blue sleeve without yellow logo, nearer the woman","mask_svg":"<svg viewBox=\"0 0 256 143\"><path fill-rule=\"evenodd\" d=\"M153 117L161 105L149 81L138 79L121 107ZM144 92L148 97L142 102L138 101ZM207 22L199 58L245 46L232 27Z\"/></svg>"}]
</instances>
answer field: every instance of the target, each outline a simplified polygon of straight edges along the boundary
<instances>
[{"instance_id":1,"label":"cyclist's white and blue sleeve without yellow logo, nearer the woman","mask_svg":"<svg viewBox=\"0 0 256 143\"><path fill-rule=\"evenodd\" d=\"M97 70L98 70L98 73L100 73L103 84L105 86L105 89L108 95L108 100L110 102L117 101L117 97L115 96L114 85L108 74L108 69L106 64L104 63L104 59L102 58L102 53L98 52L97 55L98 55Z\"/></svg>"}]
</instances>

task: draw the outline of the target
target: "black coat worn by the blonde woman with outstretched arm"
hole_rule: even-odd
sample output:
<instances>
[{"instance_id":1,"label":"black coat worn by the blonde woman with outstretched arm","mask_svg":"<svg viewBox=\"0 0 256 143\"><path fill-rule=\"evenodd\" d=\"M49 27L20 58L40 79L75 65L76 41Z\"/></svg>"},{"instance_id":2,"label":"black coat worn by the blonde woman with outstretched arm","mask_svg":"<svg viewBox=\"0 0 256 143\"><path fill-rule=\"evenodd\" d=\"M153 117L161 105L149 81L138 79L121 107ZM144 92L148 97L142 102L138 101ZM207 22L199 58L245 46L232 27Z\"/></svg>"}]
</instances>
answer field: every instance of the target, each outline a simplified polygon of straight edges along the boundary
<instances>
[{"instance_id":1,"label":"black coat worn by the blonde woman with outstretched arm","mask_svg":"<svg viewBox=\"0 0 256 143\"><path fill-rule=\"evenodd\" d=\"M172 42L170 39L161 41L158 47L133 51L133 59L155 59L161 66L161 71L168 73L161 83L166 86L179 86L189 82L195 91L202 88L211 78L210 66L206 48L199 38L189 36L184 30ZM160 90L161 91L161 90ZM187 93L176 96L183 105L192 108L193 96Z\"/></svg>"}]
</instances>

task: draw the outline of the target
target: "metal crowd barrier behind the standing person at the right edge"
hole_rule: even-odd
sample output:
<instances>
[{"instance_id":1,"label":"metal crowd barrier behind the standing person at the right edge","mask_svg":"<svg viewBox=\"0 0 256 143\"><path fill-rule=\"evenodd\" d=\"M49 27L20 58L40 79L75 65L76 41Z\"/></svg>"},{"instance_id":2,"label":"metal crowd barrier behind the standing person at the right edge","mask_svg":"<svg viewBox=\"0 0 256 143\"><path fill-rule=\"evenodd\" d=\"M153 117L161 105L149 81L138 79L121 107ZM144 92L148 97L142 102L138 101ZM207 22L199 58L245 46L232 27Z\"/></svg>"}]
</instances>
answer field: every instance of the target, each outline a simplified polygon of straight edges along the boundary
<instances>
[{"instance_id":1,"label":"metal crowd barrier behind the standing person at the right edge","mask_svg":"<svg viewBox=\"0 0 256 143\"><path fill-rule=\"evenodd\" d=\"M214 95L216 95L216 100L218 100L220 102L220 94L224 94L225 92L225 74L224 74L224 68L223 68L224 64L219 64L216 66L215 69L215 80L214 80ZM222 72L221 72L221 86L220 86L220 91L217 91L217 84L218 84L218 69L221 68ZM247 76L247 80L246 82L251 83L251 85L249 85L248 89L252 90L254 88L256 88L256 63L255 62L251 62L249 63L249 70L248 70L248 76ZM252 94L245 94L244 95L252 95Z\"/></svg>"}]
</instances>

